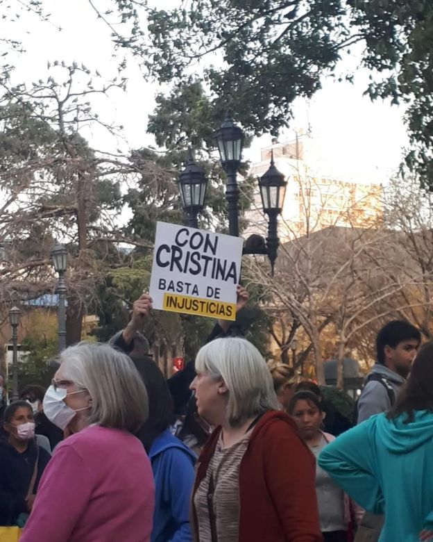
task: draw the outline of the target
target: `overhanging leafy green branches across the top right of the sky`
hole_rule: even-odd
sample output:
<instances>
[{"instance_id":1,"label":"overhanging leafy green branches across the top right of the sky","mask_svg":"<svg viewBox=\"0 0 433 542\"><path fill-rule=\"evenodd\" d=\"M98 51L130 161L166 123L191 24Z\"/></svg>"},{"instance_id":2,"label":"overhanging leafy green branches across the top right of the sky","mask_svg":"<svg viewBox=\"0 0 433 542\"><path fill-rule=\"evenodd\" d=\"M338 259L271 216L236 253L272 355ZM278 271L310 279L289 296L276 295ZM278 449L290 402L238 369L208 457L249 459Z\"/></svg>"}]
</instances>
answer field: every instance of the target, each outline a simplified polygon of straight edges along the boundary
<instances>
[{"instance_id":1,"label":"overhanging leafy green branches across the top right of the sky","mask_svg":"<svg viewBox=\"0 0 433 542\"><path fill-rule=\"evenodd\" d=\"M423 186L433 188L431 1L192 0L171 10L147 8L150 43L137 33L137 7L144 3L115 3L135 27L135 54L140 52L158 81L171 83L173 95L167 100L180 117L188 114L180 108L188 100L177 97L197 98L200 83L191 74L200 65L207 99L199 97L195 112L212 126L222 110L231 108L255 134L277 134L287 126L294 99L312 97L322 76L334 76L341 52L362 43L362 64L372 72L366 94L407 104L411 149L405 165L421 175ZM373 80L377 72L383 79ZM158 109L167 112L162 95ZM196 122L190 119L194 141Z\"/></svg>"}]
</instances>

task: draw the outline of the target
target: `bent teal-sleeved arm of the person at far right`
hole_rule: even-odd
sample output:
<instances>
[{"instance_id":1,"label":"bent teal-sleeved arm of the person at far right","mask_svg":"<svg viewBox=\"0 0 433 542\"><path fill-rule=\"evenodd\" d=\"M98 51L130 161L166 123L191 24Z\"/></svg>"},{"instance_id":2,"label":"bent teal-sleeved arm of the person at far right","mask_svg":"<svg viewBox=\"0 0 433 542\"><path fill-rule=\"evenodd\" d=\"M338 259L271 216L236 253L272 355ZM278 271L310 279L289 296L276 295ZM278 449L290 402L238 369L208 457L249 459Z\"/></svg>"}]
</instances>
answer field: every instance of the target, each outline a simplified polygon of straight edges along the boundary
<instances>
[{"instance_id":1,"label":"bent teal-sleeved arm of the person at far right","mask_svg":"<svg viewBox=\"0 0 433 542\"><path fill-rule=\"evenodd\" d=\"M362 508L383 514L384 498L371 454L370 430L374 420L357 425L329 443L318 463Z\"/></svg>"}]
</instances>

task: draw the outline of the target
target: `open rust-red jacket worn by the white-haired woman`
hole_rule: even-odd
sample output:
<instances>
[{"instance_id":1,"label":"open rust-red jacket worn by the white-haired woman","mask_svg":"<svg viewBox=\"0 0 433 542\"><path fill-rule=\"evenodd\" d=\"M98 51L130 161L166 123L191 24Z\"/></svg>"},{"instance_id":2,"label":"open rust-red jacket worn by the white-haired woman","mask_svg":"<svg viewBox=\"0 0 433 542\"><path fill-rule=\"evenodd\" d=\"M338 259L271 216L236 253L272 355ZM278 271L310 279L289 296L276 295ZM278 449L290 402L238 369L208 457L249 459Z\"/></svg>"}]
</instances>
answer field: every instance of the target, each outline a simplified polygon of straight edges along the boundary
<instances>
[{"instance_id":1,"label":"open rust-red jacket worn by the white-haired woman","mask_svg":"<svg viewBox=\"0 0 433 542\"><path fill-rule=\"evenodd\" d=\"M205 477L221 427L207 441L192 495L192 531L198 540L194 495ZM316 501L316 464L286 413L269 411L257 422L239 468L239 542L322 540Z\"/></svg>"}]
</instances>

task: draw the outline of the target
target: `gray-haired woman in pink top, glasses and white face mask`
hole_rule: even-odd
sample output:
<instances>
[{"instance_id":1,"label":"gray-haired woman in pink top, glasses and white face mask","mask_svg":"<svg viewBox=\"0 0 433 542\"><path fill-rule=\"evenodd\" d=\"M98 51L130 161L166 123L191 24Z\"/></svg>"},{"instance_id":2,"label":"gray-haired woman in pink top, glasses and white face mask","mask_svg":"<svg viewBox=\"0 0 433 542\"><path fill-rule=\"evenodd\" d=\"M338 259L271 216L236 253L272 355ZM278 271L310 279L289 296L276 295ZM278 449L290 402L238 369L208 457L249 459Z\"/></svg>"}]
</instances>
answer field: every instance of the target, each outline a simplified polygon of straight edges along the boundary
<instances>
[{"instance_id":1,"label":"gray-haired woman in pink top, glasses and white face mask","mask_svg":"<svg viewBox=\"0 0 433 542\"><path fill-rule=\"evenodd\" d=\"M109 345L67 348L44 412L73 435L56 447L20 540L148 542L153 475L133 436L148 398L133 362Z\"/></svg>"}]
</instances>

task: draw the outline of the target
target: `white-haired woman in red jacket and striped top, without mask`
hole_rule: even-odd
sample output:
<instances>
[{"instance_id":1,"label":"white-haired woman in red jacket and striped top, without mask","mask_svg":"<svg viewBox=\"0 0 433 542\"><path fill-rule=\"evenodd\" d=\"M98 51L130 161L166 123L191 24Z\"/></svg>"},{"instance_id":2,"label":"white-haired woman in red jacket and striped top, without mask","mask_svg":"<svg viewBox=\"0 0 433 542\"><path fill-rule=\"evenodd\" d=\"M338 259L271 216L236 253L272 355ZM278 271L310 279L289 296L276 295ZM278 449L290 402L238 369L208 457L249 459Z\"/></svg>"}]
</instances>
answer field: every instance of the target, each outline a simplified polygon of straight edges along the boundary
<instances>
[{"instance_id":1,"label":"white-haired woman in red jacket and striped top, without mask","mask_svg":"<svg viewBox=\"0 0 433 542\"><path fill-rule=\"evenodd\" d=\"M321 540L314 457L278 411L271 373L243 338L196 358L198 413L217 428L198 460L192 529L200 542Z\"/></svg>"}]
</instances>

